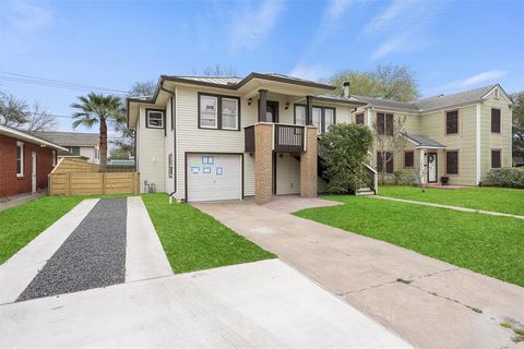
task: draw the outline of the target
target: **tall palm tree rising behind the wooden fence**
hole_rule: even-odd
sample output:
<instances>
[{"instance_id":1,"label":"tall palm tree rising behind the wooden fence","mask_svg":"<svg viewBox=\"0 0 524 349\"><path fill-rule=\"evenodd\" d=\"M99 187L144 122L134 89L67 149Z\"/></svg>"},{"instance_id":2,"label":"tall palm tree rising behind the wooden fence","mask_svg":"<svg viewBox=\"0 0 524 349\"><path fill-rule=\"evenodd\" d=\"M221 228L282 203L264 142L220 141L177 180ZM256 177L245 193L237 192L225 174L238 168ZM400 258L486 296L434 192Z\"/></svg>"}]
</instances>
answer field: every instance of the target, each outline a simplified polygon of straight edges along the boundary
<instances>
[{"instance_id":1,"label":"tall palm tree rising behind the wooden fence","mask_svg":"<svg viewBox=\"0 0 524 349\"><path fill-rule=\"evenodd\" d=\"M122 112L120 97L104 96L91 92L87 96L79 96L80 103L73 103L71 108L79 111L73 113L73 129L84 125L87 129L94 124L100 124L100 172L106 171L107 166L107 123L106 121L116 121Z\"/></svg>"}]
</instances>

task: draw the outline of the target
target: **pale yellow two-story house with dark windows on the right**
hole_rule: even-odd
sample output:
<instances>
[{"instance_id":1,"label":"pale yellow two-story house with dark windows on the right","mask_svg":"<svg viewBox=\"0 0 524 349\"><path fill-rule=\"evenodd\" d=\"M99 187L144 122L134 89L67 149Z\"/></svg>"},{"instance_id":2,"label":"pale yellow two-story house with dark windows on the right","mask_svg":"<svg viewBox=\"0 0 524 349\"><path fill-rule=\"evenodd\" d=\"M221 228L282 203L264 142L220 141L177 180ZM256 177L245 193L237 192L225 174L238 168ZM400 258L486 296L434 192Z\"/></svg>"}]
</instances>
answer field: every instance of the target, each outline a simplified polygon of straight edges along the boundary
<instances>
[{"instance_id":1,"label":"pale yellow two-story house with dark windows on the right","mask_svg":"<svg viewBox=\"0 0 524 349\"><path fill-rule=\"evenodd\" d=\"M499 84L413 103L354 97L367 106L353 120L378 127L379 134L388 136L393 120L405 120L408 145L389 164L376 149L371 163L379 171L422 170L425 183L446 176L451 184L478 185L490 169L512 166L513 103Z\"/></svg>"}]
</instances>

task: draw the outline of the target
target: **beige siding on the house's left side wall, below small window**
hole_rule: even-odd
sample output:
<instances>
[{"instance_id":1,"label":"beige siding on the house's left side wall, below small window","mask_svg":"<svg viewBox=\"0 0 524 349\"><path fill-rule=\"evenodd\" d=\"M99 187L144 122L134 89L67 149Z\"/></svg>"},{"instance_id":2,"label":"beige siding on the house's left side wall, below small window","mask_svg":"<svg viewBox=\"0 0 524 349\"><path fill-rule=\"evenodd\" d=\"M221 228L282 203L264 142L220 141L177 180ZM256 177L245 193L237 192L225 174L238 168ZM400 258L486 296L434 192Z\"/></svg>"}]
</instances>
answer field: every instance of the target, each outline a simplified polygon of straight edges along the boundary
<instances>
[{"instance_id":1,"label":"beige siding on the house's left side wall, below small window","mask_svg":"<svg viewBox=\"0 0 524 349\"><path fill-rule=\"evenodd\" d=\"M145 191L144 181L154 183L157 192L165 191L165 153L164 130L145 127L145 107L140 107L139 119L139 172L140 190Z\"/></svg>"}]
</instances>

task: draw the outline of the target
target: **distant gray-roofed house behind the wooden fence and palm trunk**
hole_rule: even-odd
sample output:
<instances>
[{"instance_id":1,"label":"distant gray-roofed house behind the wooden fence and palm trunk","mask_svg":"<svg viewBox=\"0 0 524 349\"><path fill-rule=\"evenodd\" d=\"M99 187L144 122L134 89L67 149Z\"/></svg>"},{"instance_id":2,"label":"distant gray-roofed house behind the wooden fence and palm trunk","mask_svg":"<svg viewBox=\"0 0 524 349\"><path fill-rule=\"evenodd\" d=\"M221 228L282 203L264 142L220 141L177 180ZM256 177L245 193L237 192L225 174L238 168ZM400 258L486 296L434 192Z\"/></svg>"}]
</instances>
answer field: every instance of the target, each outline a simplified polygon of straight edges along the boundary
<instances>
[{"instance_id":1,"label":"distant gray-roofed house behind the wooden fence and palm trunk","mask_svg":"<svg viewBox=\"0 0 524 349\"><path fill-rule=\"evenodd\" d=\"M62 152L58 156L84 156L91 164L100 164L100 139L97 133L36 132L35 135L68 148L68 152Z\"/></svg>"}]
</instances>

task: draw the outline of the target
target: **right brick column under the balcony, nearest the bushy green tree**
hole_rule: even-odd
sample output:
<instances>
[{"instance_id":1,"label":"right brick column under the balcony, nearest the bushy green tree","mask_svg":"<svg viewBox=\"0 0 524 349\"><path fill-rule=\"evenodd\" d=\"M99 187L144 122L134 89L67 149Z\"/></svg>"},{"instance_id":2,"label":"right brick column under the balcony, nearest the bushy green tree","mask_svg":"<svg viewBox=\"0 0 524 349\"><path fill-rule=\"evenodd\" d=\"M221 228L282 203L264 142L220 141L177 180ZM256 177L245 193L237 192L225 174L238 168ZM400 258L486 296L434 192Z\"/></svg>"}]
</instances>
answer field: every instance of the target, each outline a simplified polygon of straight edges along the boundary
<instances>
[{"instance_id":1,"label":"right brick column under the balcony, nearest the bushy green tree","mask_svg":"<svg viewBox=\"0 0 524 349\"><path fill-rule=\"evenodd\" d=\"M317 128L306 128L306 153L300 155L300 196L317 197Z\"/></svg>"}]
</instances>

